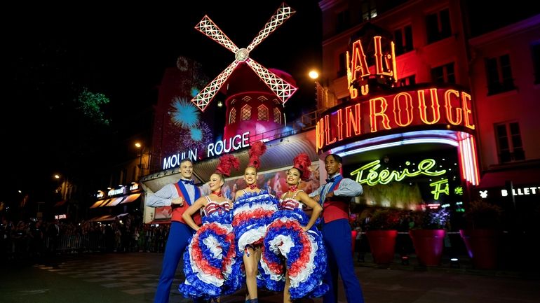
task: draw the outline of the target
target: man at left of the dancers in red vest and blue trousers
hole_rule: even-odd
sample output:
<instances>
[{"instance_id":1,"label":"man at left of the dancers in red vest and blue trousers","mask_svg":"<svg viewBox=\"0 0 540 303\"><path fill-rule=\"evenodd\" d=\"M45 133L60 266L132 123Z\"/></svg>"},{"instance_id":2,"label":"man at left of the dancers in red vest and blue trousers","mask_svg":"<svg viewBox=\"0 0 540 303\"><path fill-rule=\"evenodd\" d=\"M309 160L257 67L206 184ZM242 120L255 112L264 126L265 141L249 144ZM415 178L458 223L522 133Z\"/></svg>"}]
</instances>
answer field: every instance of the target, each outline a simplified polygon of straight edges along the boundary
<instances>
[{"instance_id":1,"label":"man at left of the dancers in red vest and blue trousers","mask_svg":"<svg viewBox=\"0 0 540 303\"><path fill-rule=\"evenodd\" d=\"M175 278L176 267L180 262L184 249L189 244L189 238L195 232L182 219L182 213L201 197L201 188L196 188L191 180L193 163L189 159L180 162L180 181L178 183L163 186L154 195L149 195L146 205L150 207L171 206L173 218L170 221L170 232L167 239L165 254L163 255L163 267L159 276L158 288L154 303L168 303L170 286ZM201 214L195 213L193 220L201 225Z\"/></svg>"}]
</instances>

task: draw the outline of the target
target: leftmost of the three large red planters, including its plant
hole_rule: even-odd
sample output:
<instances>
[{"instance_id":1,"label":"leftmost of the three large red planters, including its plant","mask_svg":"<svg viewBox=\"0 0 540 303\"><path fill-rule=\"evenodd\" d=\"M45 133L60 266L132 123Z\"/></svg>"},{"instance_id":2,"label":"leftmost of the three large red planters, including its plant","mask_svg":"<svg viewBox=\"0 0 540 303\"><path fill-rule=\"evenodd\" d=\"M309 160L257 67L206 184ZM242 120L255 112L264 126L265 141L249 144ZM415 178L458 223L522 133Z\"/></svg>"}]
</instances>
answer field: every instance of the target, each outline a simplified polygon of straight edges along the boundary
<instances>
[{"instance_id":1,"label":"leftmost of the three large red planters, including its plant","mask_svg":"<svg viewBox=\"0 0 540 303\"><path fill-rule=\"evenodd\" d=\"M377 264L393 262L400 212L395 209L377 209L366 224L365 235L370 242L373 260Z\"/></svg>"}]
</instances>

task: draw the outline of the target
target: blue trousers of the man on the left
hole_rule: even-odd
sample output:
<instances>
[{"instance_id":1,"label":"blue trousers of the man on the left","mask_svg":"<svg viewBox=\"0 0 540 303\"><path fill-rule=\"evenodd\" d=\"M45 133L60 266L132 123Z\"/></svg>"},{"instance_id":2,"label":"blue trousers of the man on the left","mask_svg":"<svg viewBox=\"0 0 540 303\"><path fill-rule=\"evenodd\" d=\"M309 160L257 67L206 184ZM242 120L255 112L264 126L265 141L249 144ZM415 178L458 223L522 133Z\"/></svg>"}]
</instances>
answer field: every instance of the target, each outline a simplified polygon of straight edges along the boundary
<instances>
[{"instance_id":1,"label":"blue trousers of the man on the left","mask_svg":"<svg viewBox=\"0 0 540 303\"><path fill-rule=\"evenodd\" d=\"M159 276L154 303L169 302L170 286L173 284L173 279L175 279L176 268L189 244L189 238L194 232L191 227L184 223L176 221L170 223L169 237L163 254L163 267Z\"/></svg>"}]
</instances>

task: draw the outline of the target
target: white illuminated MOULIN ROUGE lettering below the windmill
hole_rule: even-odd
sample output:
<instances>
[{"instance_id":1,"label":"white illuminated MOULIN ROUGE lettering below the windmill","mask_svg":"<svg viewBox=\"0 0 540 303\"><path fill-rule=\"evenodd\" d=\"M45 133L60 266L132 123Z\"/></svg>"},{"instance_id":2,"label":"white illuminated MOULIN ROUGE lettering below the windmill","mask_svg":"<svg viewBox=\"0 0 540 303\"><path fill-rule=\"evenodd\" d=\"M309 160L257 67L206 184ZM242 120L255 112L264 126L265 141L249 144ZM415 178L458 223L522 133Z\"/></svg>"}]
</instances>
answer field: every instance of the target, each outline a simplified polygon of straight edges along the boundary
<instances>
[{"instance_id":1,"label":"white illuminated MOULIN ROUGE lettering below the windmill","mask_svg":"<svg viewBox=\"0 0 540 303\"><path fill-rule=\"evenodd\" d=\"M214 157L217 155L222 155L230 153L231 151L239 150L250 146L249 144L250 132L245 132L243 134L237 134L229 139L219 140L215 143L210 143L206 146L204 153L205 157ZM189 158L191 162L196 162L198 159L198 150L194 148L192 150L184 151L182 153L175 153L168 157L163 158L163 169L170 169L180 165L180 162L184 158Z\"/></svg>"}]
</instances>

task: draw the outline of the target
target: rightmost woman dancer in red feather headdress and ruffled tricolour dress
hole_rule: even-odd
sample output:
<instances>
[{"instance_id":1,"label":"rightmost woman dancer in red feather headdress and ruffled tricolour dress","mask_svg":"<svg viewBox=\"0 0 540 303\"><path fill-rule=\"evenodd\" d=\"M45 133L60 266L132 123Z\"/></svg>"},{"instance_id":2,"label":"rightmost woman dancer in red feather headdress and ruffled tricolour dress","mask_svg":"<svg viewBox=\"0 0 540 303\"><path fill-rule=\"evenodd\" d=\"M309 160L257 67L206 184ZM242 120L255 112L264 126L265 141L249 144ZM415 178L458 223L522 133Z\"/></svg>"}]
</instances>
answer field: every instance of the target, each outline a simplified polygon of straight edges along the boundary
<instances>
[{"instance_id":1,"label":"rightmost woman dancer in red feather headdress and ruffled tricolour dress","mask_svg":"<svg viewBox=\"0 0 540 303\"><path fill-rule=\"evenodd\" d=\"M307 180L311 174L311 160L301 153L293 162L287 171L289 189L281 197L279 210L272 216L264 237L259 269L266 288L283 290L284 303L306 296L320 297L328 291L328 285L323 284L326 251L322 234L315 227L323 208L298 189L301 178ZM304 205L313 209L309 218Z\"/></svg>"}]
</instances>

